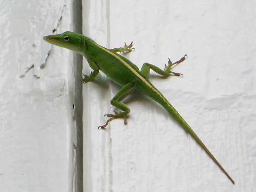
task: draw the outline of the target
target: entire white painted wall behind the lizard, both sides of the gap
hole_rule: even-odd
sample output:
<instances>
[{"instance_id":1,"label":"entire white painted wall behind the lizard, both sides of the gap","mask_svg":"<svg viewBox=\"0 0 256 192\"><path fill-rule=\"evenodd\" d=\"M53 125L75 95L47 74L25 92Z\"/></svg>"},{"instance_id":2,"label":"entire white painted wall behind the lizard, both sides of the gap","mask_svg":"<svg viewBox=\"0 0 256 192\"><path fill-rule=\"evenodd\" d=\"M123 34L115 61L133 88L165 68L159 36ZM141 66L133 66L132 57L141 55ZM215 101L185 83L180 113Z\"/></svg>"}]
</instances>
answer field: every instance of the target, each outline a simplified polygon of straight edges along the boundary
<instances>
[{"instance_id":1,"label":"entire white painted wall behind the lizard, both sides of the gap","mask_svg":"<svg viewBox=\"0 0 256 192\"><path fill-rule=\"evenodd\" d=\"M73 31L72 6L69 0L0 1L0 191L76 191L73 53L42 40L53 28ZM119 119L98 130L120 89L101 73L83 85L85 192L256 190L254 7L248 1L83 1L83 33L110 48L133 40L135 51L126 57L139 68L144 62L163 68L168 57L188 55L173 70L183 78L152 72L150 80L236 182L138 92L124 101L131 109L127 126ZM83 73L90 73L86 62Z\"/></svg>"}]
</instances>

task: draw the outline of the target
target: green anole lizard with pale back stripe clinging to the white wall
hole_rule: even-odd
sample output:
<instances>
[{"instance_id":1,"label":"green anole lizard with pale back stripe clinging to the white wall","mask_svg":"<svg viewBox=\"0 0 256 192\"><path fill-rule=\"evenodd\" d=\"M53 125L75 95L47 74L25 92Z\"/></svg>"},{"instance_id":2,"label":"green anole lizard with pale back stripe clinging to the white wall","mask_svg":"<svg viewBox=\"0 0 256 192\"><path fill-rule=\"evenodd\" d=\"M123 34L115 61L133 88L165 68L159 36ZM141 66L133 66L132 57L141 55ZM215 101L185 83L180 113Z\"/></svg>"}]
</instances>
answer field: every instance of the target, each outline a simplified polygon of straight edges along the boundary
<instances>
[{"instance_id":1,"label":"green anole lizard with pale back stripe clinging to the white wall","mask_svg":"<svg viewBox=\"0 0 256 192\"><path fill-rule=\"evenodd\" d=\"M182 126L191 137L196 140L196 142L204 149L204 151L211 157L211 159L218 165L218 167L225 173L225 175L230 179L230 181L235 184L232 178L228 175L225 169L219 164L211 152L206 148L204 143L199 139L199 137L194 133L186 121L178 114L176 109L166 100L166 98L157 90L152 83L149 82L149 72L150 69L160 74L161 76L168 76L173 74L175 76L182 75L181 73L175 73L171 71L171 67L175 64L179 64L185 60L185 55L179 61L172 63L171 60L168 60L168 66L165 66L164 70L159 69L157 66L154 66L149 63L144 63L141 70L138 67L130 62L125 57L119 55L117 52L127 53L130 52L130 49L133 46L133 42L130 45L124 47L107 49L95 43L94 40L83 36L78 33L64 32L58 35L50 35L43 37L45 41L51 43L52 45L57 45L59 47L64 47L69 50L78 52L83 55L90 67L92 72L90 76L84 75L82 80L83 83L93 81L93 79L99 73L99 70L105 73L112 81L122 86L121 90L113 97L111 100L111 105L120 109L122 112L116 114L106 114L105 116L110 117L107 120L106 124L99 126L99 128L105 128L110 121L116 118L123 118L126 121L127 114L130 113L130 109L126 104L121 103L121 101L127 97L133 90L139 90L140 92L145 93L147 96L161 104L166 111Z\"/></svg>"}]
</instances>

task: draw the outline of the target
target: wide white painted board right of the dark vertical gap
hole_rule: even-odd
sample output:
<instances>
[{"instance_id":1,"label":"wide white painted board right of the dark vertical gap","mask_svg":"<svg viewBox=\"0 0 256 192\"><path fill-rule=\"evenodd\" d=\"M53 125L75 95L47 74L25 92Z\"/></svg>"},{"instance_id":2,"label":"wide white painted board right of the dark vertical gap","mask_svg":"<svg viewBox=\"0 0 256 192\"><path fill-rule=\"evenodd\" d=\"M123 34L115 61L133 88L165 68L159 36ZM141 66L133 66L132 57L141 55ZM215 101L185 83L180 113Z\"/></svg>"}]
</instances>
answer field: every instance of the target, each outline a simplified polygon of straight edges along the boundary
<instances>
[{"instance_id":1,"label":"wide white painted board right of the dark vertical gap","mask_svg":"<svg viewBox=\"0 0 256 192\"><path fill-rule=\"evenodd\" d=\"M110 100L120 89L84 85L84 186L86 192L255 191L255 5L228 1L84 1L83 32L114 48L133 40L126 55L139 68L161 68L168 57L188 58L158 88L235 180L226 178L205 152L154 101L135 92L125 100L128 125L112 121ZM107 11L106 11L107 10ZM84 73L90 69L84 65ZM100 83L99 83L100 82ZM107 81L109 82L109 81ZM108 86L109 85L109 86Z\"/></svg>"}]
</instances>

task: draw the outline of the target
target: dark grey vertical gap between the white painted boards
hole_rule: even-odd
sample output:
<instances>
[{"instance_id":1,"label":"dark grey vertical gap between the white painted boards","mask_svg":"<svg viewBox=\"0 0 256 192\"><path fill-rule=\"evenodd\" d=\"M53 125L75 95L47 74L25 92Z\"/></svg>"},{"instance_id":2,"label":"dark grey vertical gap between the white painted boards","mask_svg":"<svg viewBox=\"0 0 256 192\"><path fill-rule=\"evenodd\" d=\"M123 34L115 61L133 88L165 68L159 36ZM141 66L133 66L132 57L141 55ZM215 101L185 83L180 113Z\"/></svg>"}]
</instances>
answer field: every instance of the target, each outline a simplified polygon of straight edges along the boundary
<instances>
[{"instance_id":1,"label":"dark grey vertical gap between the white painted boards","mask_svg":"<svg viewBox=\"0 0 256 192\"><path fill-rule=\"evenodd\" d=\"M73 32L82 34L82 0L73 0ZM82 98L82 68L83 56L73 54L74 61L74 117L76 125L76 174L75 188L76 192L83 192L83 98Z\"/></svg>"}]
</instances>

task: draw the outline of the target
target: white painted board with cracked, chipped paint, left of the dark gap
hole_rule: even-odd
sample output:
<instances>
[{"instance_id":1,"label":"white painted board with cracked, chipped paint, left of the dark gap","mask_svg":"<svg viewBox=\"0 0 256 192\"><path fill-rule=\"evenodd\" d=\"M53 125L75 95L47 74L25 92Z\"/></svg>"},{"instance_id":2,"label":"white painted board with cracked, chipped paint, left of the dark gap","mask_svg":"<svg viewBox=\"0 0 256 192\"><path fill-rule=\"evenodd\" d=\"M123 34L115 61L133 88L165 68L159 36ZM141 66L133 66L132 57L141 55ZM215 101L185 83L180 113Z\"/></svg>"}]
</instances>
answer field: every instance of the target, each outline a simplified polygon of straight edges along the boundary
<instances>
[{"instance_id":1,"label":"white painted board with cracked, chipped paint, left of the dark gap","mask_svg":"<svg viewBox=\"0 0 256 192\"><path fill-rule=\"evenodd\" d=\"M73 53L43 42L72 30L71 2L0 0L1 192L76 189Z\"/></svg>"}]
</instances>

